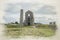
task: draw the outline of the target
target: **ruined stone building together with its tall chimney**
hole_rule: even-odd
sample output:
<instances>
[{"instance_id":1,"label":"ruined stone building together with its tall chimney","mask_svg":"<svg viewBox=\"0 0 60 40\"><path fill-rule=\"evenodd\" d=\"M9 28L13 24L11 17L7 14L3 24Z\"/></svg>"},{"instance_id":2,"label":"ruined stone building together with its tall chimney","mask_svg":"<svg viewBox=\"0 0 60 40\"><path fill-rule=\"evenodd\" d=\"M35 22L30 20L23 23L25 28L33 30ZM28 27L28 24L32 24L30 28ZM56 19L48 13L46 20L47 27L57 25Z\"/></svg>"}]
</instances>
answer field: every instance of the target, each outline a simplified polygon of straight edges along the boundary
<instances>
[{"instance_id":1,"label":"ruined stone building together with its tall chimney","mask_svg":"<svg viewBox=\"0 0 60 40\"><path fill-rule=\"evenodd\" d=\"M23 22L23 9L21 9L21 13L20 13L20 25L21 26L23 26L23 25L27 25L27 26L34 25L33 12L31 12L30 10L28 10L25 13L25 20Z\"/></svg>"}]
</instances>

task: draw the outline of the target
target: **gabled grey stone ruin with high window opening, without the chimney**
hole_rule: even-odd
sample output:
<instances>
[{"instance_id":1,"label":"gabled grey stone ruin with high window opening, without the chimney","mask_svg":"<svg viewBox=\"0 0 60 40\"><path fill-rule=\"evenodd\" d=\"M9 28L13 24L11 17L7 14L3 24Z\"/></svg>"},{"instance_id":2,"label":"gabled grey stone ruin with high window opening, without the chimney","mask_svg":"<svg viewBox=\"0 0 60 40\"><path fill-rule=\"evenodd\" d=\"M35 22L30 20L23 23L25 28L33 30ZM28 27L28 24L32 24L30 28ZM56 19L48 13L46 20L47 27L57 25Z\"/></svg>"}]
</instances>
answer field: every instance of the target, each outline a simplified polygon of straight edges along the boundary
<instances>
[{"instance_id":1,"label":"gabled grey stone ruin with high window opening, without the chimney","mask_svg":"<svg viewBox=\"0 0 60 40\"><path fill-rule=\"evenodd\" d=\"M25 13L25 25L33 25L33 24L34 24L33 12L28 10Z\"/></svg>"}]
</instances>

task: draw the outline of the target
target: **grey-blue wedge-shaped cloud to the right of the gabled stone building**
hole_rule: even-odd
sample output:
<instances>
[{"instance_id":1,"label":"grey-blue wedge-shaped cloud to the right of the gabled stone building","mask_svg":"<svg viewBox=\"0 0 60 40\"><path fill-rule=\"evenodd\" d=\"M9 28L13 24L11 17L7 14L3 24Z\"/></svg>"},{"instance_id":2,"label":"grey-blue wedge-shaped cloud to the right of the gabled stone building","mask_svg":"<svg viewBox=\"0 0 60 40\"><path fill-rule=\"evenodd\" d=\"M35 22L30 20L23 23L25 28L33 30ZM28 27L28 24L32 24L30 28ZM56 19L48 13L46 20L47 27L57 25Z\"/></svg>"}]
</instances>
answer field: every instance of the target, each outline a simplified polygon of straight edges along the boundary
<instances>
[{"instance_id":1,"label":"grey-blue wedge-shaped cloud to the right of the gabled stone building","mask_svg":"<svg viewBox=\"0 0 60 40\"><path fill-rule=\"evenodd\" d=\"M43 7L39 8L36 13L43 14L43 15L55 15L56 11L53 6L44 5Z\"/></svg>"}]
</instances>

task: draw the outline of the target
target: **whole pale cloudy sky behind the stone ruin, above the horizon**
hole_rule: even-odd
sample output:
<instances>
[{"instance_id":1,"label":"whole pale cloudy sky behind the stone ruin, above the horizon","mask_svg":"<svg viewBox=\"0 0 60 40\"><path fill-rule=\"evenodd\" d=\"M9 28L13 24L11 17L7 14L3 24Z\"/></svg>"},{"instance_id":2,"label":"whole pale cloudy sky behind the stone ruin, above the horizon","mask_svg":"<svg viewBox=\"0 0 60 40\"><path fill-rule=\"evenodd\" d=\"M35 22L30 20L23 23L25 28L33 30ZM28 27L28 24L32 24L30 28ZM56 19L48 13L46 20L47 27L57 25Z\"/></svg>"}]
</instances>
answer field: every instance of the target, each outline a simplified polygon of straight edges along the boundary
<instances>
[{"instance_id":1,"label":"whole pale cloudy sky behind the stone ruin, above the horizon","mask_svg":"<svg viewBox=\"0 0 60 40\"><path fill-rule=\"evenodd\" d=\"M35 22L48 23L55 21L55 4L55 0L5 0L0 4L0 12L1 16L3 16L1 23L19 21L21 8L24 9L24 12L28 9L31 10L34 14Z\"/></svg>"}]
</instances>

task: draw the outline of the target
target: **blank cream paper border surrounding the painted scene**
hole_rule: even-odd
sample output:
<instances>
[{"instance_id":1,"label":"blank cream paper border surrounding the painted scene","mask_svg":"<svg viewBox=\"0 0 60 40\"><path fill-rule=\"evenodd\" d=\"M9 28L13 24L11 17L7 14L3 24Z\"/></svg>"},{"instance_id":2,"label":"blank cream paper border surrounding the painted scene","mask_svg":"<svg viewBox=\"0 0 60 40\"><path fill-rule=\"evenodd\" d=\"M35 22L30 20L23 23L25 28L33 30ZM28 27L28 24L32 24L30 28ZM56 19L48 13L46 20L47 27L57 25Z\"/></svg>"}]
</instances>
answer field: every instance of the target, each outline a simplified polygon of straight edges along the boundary
<instances>
[{"instance_id":1,"label":"blank cream paper border surrounding the painted scene","mask_svg":"<svg viewBox=\"0 0 60 40\"><path fill-rule=\"evenodd\" d=\"M3 16L5 14L4 7L6 3L15 3L15 2L31 2L31 3L43 3L48 5L56 6L57 12L57 31L56 35L52 37L39 37L33 38L26 36L24 38L6 38L3 36L4 25L0 25L0 40L60 40L60 0L0 0L0 23L4 23Z\"/></svg>"}]
</instances>

